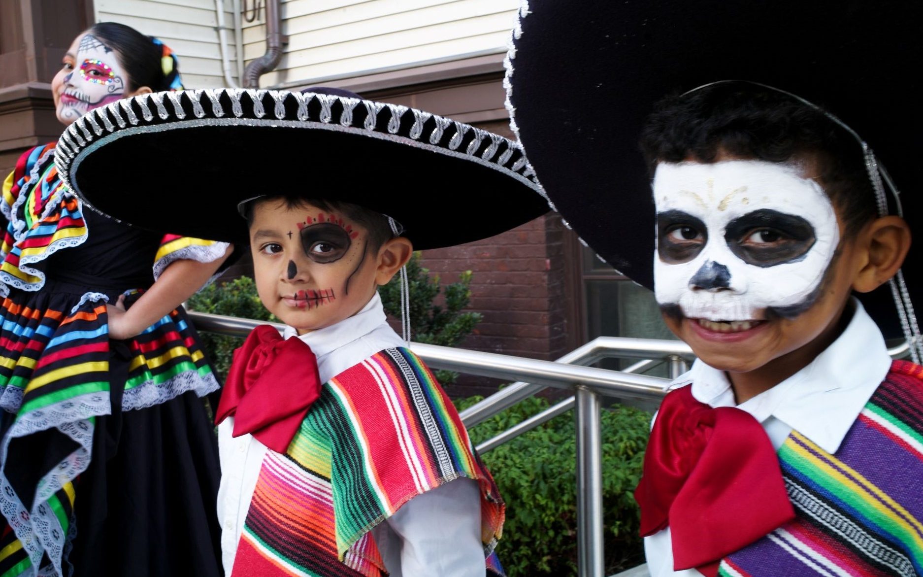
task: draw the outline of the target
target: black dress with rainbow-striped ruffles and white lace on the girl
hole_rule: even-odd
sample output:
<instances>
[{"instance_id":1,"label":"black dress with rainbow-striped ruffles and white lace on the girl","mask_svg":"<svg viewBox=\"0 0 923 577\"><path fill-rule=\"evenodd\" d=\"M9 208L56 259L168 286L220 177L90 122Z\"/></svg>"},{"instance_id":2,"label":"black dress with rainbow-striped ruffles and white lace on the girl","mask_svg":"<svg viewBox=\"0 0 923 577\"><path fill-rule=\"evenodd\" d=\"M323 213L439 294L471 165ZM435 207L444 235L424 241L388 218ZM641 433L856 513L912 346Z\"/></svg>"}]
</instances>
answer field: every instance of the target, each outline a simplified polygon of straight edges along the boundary
<instances>
[{"instance_id":1,"label":"black dress with rainbow-striped ruffles and white lace on the girl","mask_svg":"<svg viewBox=\"0 0 923 577\"><path fill-rule=\"evenodd\" d=\"M217 490L217 449L198 396L218 382L182 309L115 342L106 303L126 294L130 307L171 262L215 260L227 245L140 231L84 212L57 176L52 144L22 155L4 183L0 210L0 575L66 575L75 558L82 559L78 575L142 574L129 569L130 561L123 569L103 568L94 555L104 556L91 549L120 547L114 515L123 507L132 514L163 490L142 481L138 493L161 495L139 499L134 487L120 487L136 479L120 480L113 471L150 478L146 463L170 454L195 459L203 469L190 471L189 486L199 493L192 499L202 501L202 516L213 516L207 493L212 485ZM150 443L126 446L126 439L145 437L142 423L154 409L176 419L180 436L205 438L188 447L185 439L156 446L165 437L150 431ZM207 525L199 529L210 542ZM150 547L164 545L156 535L150 540ZM141 555L137 547L124 550ZM218 575L219 568L201 574Z\"/></svg>"}]
</instances>

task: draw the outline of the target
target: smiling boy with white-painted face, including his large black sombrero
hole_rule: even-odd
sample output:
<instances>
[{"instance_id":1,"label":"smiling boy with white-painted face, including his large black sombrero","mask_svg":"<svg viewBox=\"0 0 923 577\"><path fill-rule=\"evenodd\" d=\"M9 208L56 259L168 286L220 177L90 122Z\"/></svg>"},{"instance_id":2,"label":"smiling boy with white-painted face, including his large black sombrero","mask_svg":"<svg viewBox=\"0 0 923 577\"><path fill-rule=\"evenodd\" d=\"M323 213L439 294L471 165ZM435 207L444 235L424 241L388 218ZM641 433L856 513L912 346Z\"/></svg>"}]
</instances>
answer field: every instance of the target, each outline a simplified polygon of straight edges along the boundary
<instances>
[{"instance_id":1,"label":"smiling boy with white-painted face, including his large black sombrero","mask_svg":"<svg viewBox=\"0 0 923 577\"><path fill-rule=\"evenodd\" d=\"M509 105L545 192L699 357L661 405L636 491L654 577L923 573L920 282L901 272L919 264L919 195L898 195L921 152L902 90L920 16L900 2L521 12ZM892 362L885 335L914 362Z\"/></svg>"}]
</instances>

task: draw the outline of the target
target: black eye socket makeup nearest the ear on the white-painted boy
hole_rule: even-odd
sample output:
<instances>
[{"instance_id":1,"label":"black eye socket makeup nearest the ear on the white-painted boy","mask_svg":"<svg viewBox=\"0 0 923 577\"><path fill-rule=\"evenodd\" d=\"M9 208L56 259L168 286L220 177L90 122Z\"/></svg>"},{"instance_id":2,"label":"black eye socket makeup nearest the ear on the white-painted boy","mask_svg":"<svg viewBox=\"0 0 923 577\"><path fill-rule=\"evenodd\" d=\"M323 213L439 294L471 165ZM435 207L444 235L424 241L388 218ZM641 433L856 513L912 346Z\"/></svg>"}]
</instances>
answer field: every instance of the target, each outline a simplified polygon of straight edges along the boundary
<instances>
[{"instance_id":1,"label":"black eye socket makeup nearest the ear on the white-painted boy","mask_svg":"<svg viewBox=\"0 0 923 577\"><path fill-rule=\"evenodd\" d=\"M810 222L778 210L754 210L725 227L725 241L731 252L761 268L805 258L815 240Z\"/></svg>"}]
</instances>

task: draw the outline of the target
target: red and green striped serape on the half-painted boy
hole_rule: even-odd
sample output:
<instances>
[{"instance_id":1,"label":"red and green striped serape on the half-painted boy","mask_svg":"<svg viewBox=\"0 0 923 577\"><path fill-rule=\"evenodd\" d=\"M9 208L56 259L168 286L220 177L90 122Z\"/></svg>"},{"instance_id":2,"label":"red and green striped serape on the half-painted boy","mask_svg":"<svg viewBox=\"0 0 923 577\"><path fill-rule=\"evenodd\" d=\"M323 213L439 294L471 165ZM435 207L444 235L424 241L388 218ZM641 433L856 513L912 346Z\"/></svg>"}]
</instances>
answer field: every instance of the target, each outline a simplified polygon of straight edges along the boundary
<instances>
[{"instance_id":1,"label":"red and green striped serape on the half-painted boy","mask_svg":"<svg viewBox=\"0 0 923 577\"><path fill-rule=\"evenodd\" d=\"M371 529L461 477L481 487L485 574L502 575L503 501L458 413L416 355L380 351L323 386L288 451L267 451L232 576L387 575Z\"/></svg>"}]
</instances>

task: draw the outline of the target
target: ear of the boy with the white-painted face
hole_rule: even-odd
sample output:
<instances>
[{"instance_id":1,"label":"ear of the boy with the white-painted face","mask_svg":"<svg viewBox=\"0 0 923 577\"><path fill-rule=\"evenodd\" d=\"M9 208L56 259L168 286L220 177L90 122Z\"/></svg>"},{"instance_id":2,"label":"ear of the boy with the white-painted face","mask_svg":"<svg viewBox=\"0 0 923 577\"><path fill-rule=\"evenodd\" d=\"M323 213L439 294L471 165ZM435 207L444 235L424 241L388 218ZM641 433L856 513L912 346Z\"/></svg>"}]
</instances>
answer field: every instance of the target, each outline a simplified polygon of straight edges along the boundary
<instances>
[{"instance_id":1,"label":"ear of the boy with the white-painted face","mask_svg":"<svg viewBox=\"0 0 923 577\"><path fill-rule=\"evenodd\" d=\"M859 233L868 258L853 282L853 289L869 293L891 280L910 250L910 227L899 216L882 216Z\"/></svg>"}]
</instances>

